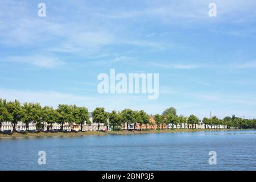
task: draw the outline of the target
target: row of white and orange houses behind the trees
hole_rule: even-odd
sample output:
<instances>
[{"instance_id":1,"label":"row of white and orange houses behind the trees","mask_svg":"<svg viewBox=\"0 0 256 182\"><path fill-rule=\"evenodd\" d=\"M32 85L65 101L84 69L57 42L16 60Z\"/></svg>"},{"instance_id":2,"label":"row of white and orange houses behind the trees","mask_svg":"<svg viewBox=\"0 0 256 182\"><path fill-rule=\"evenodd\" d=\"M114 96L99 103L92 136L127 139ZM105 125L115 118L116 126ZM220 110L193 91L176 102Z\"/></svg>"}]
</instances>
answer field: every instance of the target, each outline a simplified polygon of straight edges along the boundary
<instances>
[{"instance_id":1,"label":"row of white and orange houses behind the trees","mask_svg":"<svg viewBox=\"0 0 256 182\"><path fill-rule=\"evenodd\" d=\"M82 125L82 131L96 131L98 130L98 125L97 123L93 123L92 120L92 115L89 114L89 120L90 122L92 123L92 125L87 125L86 123L84 123L84 125ZM158 126L156 125L155 123L155 120L154 120L154 116L151 115L150 116L150 123L151 125L145 125L145 124L142 124L142 127L141 125L139 125L138 123L136 125L134 125L134 123L130 123L128 125L128 129L129 130L140 130L142 128L142 130L145 130L145 129L150 129L150 130L156 130L158 128ZM60 124L59 123L53 123L52 124L52 130L59 130L60 129ZM77 125L77 124L73 124L73 130L75 131L79 131L80 130L80 125ZM171 129L172 125L169 124L169 125L165 125L163 124L163 129ZM207 128L210 127L210 126L206 126ZM215 127L215 126L214 126ZM214 128L213 127L213 128ZM225 127L224 126L220 126L221 129L224 129ZM160 125L160 128L162 128L162 125ZM182 124L181 126L180 125L175 125L174 126L174 129L191 129L192 128L192 125L187 125L187 124ZM204 123L200 122L199 125L194 125L193 128L196 128L196 129L205 129L205 125ZM26 126L25 126L25 123L23 122L18 122L17 125L15 126L15 129L16 131L23 131L23 130L26 130ZM100 125L100 130L111 130L112 128L107 125ZM122 129L123 130L127 130L127 125L123 125L122 126ZM3 122L1 128L0 128L0 131L12 131L13 130L13 126L11 125L11 122ZM28 127L28 130L36 130L36 124L35 123L30 123L29 127ZM43 128L44 131L48 131L50 130L50 125L47 124L47 123L44 123L44 128ZM71 131L71 125L70 123L64 123L63 125L63 130L64 131Z\"/></svg>"}]
</instances>

